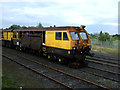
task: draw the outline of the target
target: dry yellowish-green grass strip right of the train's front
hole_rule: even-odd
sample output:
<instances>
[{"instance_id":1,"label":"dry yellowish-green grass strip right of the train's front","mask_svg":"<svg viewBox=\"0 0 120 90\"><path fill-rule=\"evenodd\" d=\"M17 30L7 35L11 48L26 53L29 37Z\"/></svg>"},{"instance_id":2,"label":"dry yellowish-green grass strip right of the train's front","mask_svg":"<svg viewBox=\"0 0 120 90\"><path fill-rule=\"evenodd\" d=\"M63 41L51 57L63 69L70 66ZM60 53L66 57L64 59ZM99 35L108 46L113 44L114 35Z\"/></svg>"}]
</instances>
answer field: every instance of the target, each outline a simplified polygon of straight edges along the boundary
<instances>
[{"instance_id":1,"label":"dry yellowish-green grass strip right of the train's front","mask_svg":"<svg viewBox=\"0 0 120 90\"><path fill-rule=\"evenodd\" d=\"M92 51L99 52L99 53L119 55L120 56L119 48L115 48L115 47L92 45Z\"/></svg>"}]
</instances>

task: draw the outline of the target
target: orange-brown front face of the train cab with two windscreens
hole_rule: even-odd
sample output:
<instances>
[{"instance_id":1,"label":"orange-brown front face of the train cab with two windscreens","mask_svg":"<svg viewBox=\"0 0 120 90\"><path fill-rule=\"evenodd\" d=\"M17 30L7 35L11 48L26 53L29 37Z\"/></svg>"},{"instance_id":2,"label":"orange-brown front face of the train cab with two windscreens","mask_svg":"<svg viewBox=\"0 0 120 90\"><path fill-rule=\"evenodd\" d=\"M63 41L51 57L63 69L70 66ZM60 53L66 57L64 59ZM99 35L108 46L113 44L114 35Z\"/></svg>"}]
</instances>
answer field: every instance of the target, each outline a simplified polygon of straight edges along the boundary
<instances>
[{"instance_id":1,"label":"orange-brown front face of the train cab with two windscreens","mask_svg":"<svg viewBox=\"0 0 120 90\"><path fill-rule=\"evenodd\" d=\"M91 46L89 35L84 28L76 28L73 31L69 31L69 33L73 50L84 49L87 46Z\"/></svg>"}]
</instances>

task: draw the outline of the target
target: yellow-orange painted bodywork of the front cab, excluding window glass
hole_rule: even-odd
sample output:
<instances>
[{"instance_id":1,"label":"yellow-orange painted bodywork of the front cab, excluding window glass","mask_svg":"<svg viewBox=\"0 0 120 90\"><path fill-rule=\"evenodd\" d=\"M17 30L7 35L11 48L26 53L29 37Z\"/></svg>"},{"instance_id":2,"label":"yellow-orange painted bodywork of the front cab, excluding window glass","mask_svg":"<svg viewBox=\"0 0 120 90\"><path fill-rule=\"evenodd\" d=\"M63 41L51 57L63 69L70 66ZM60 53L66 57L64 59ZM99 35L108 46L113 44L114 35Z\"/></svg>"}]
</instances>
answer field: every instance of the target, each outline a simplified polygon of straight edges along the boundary
<instances>
[{"instance_id":1,"label":"yellow-orange painted bodywork of the front cab, excluding window glass","mask_svg":"<svg viewBox=\"0 0 120 90\"><path fill-rule=\"evenodd\" d=\"M58 30L46 31L45 45L49 46L49 47L55 47L55 48L61 48L61 49L67 49L67 50L72 50L72 47L77 47L77 49L79 49L79 48L82 48L83 45L85 45L83 48L91 45L90 38L89 38L86 30L82 30L82 32L87 33L88 43L85 43L79 35L79 37L80 37L79 44L78 44L77 40L72 40L72 38L70 36L70 31L79 32L73 28L70 30L66 30L66 31L65 30L63 30L63 31L62 30L60 30L60 31L58 31ZM62 32L62 40L55 40L55 33L56 32ZM63 40L63 32L67 33L69 40Z\"/></svg>"}]
</instances>

